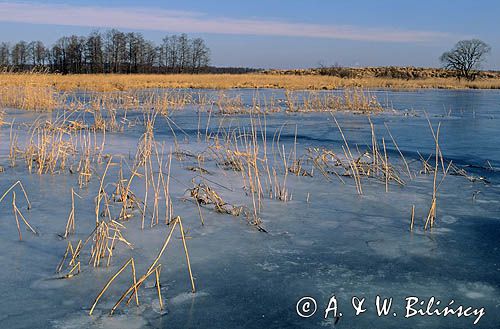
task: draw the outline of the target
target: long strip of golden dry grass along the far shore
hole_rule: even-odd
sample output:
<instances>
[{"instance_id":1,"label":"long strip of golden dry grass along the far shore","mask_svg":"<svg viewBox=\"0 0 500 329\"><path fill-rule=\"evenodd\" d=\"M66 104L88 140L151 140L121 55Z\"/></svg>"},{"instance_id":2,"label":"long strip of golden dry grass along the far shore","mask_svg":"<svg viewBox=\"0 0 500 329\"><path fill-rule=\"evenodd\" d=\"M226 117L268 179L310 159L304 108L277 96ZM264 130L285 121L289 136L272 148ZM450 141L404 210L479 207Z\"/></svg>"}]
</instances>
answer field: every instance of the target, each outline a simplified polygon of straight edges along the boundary
<instances>
[{"instance_id":1,"label":"long strip of golden dry grass along the far shore","mask_svg":"<svg viewBox=\"0 0 500 329\"><path fill-rule=\"evenodd\" d=\"M144 88L282 88L289 90L332 90L338 88L389 89L500 89L500 78L476 81L455 78L397 79L379 77L339 78L323 75L292 74L0 74L0 88L51 87L56 91L119 91Z\"/></svg>"}]
</instances>

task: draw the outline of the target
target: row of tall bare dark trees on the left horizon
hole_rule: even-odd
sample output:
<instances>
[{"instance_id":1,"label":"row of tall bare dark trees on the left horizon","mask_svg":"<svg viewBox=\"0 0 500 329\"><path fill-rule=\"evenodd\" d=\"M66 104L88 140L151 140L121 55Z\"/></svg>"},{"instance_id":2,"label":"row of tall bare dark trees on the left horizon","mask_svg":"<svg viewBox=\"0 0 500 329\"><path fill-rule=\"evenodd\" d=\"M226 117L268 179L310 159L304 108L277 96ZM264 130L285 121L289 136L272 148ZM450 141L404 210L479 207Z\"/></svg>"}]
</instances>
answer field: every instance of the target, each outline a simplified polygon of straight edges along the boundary
<instances>
[{"instance_id":1,"label":"row of tall bare dark trees on the left horizon","mask_svg":"<svg viewBox=\"0 0 500 329\"><path fill-rule=\"evenodd\" d=\"M64 36L51 47L42 41L0 43L0 67L16 72L199 73L209 64L205 41L186 34L165 36L158 45L141 33L116 29Z\"/></svg>"}]
</instances>

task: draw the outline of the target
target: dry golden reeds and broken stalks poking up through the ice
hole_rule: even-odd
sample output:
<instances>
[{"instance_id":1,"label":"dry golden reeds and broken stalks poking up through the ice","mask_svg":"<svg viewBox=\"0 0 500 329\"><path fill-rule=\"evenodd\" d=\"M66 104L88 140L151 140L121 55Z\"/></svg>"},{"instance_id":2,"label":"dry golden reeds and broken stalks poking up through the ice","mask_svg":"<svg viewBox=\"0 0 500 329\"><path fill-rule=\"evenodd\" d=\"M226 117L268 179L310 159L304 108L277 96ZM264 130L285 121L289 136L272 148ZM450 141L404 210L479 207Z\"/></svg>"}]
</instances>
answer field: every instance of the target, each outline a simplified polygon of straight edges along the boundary
<instances>
[{"instance_id":1,"label":"dry golden reeds and broken stalks poking up through the ice","mask_svg":"<svg viewBox=\"0 0 500 329\"><path fill-rule=\"evenodd\" d=\"M214 76L186 77L196 80L194 84L197 87L207 87L211 83L209 80L216 80ZM246 78L251 81L254 77L230 76L229 82L224 80L222 85L216 87L222 88L226 83L234 84ZM274 79L272 76L258 76L258 79L262 77ZM90 315L96 308L104 308L101 306L104 299L113 303L106 309L111 314L126 305L140 305L141 296L146 293L141 287L147 280L154 284L158 305L163 309L164 296L160 285L168 278L161 276L162 256L175 240L180 240L182 254L171 257L185 259L186 282L189 282L186 290L195 293L196 268L191 268L189 232L183 225L186 219L176 214L176 202L191 203L190 225L193 225L193 218L201 226L211 225L203 215L210 211L241 219L259 234L266 234L266 221L270 219L262 216L262 209L266 202L278 202L286 207L294 198L289 188L294 177L307 180L320 176L325 182L337 181L352 186L357 194L363 195L365 184L376 184L381 192L389 192L395 187L404 188L417 176L430 176L432 184L428 189L432 198L428 200L428 207L415 209L412 206L407 213L401 214L401 217L407 218L409 231L425 233L431 231L439 220L436 210L439 207L440 187L448 175L463 176L470 181L482 179L468 174L444 157L439 144L440 126L433 126L430 121L428 128L435 145L434 153L426 157L420 155L416 161L408 160L398 147L397 136L393 136L387 126L376 127L372 123L370 115L376 115L384 108L374 95L360 88L321 93L288 90L283 99L274 96L263 98L256 91L251 105L248 105L241 96L224 90L212 96L185 91L95 91L165 87L164 83L178 83L179 87L184 83L193 83L161 80L182 80L182 76L102 76L97 83L90 76L8 77L16 78L24 79L16 87L2 81L2 107L54 110L54 113L20 125L6 122L0 116L3 129L9 130L8 165L32 175L67 175L74 181L68 194L71 208L67 210L69 215L60 228L59 236L67 240L67 245L60 250L60 262L54 264L58 279L69 280L77 275L88 275L94 268L110 266L117 250L126 253L126 250L133 249L135 242L129 240L126 233L131 225L138 225L141 230L168 228L163 244L158 246L157 256L146 267L141 264L141 259L129 257L119 264L116 272L109 274L99 294L89 298L89 305L82 305L88 307ZM309 78L304 77L304 81ZM297 77L297 80L291 79L288 83L298 83L295 86L298 87L304 81ZM252 86L252 82L248 83ZM274 82L269 83L272 85ZM75 89L86 91L78 95L59 92ZM188 108L197 111L198 115L194 145L182 142L183 135L187 133L171 118L172 113L187 111ZM371 144L366 148L360 149L350 143L349 136L344 134L342 125L334 117L335 112L345 110L367 114L365 129L371 132ZM301 127L298 126L295 126L293 143L285 143L281 140L285 122L272 131L267 127L268 117L277 112L327 112L335 122L342 143L328 148L311 146L300 149L297 140L300 139ZM248 124L222 123L224 118L231 121L233 115L245 115ZM214 128L211 120L215 118L222 118L222 121ZM174 136L172 144L165 144L157 138L160 119L165 125L163 128L169 129ZM109 134L126 134L130 129L142 131L133 154L127 157L107 146ZM380 130L387 131L390 138L379 137L377 132ZM389 146L397 151L397 156L389 156ZM192 172L190 185L182 190L172 189L172 179L175 179L172 167L175 163ZM214 174L216 170L219 175ZM228 188L220 172L240 182L245 196L241 199L242 203L224 197L221 191ZM85 238L73 239L79 221L84 220L75 215L75 200L82 197L81 190L94 186L90 185L91 182L98 186L90 191L94 208L88 209L93 214L95 225L93 230L86 232ZM24 226L34 235L38 234L30 223L30 217L35 217L37 211L31 207L31 193L36 191L26 191L22 181L17 181L0 196L3 207L10 202L12 225L17 226L20 240L26 239L21 234ZM180 199L179 195L182 195ZM307 203L312 197L314 195L307 194ZM416 217L416 212L423 216ZM179 239L173 238L176 232ZM140 272L138 268L144 270ZM109 287L116 284L118 277L124 276L130 280L128 285L120 287L121 294L109 293ZM205 282L205 285L209 284Z\"/></svg>"}]
</instances>

